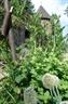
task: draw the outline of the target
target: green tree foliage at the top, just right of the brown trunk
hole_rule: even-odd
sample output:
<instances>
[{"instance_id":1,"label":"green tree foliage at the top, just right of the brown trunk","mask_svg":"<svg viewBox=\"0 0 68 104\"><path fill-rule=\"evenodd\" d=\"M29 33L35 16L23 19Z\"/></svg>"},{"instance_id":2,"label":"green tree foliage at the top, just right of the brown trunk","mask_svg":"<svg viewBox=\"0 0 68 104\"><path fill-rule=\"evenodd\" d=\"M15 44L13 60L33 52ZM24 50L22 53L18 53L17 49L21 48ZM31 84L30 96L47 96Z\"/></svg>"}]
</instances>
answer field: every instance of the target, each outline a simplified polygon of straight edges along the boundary
<instances>
[{"instance_id":1,"label":"green tree foliage at the top, just right of the brown trunk","mask_svg":"<svg viewBox=\"0 0 68 104\"><path fill-rule=\"evenodd\" d=\"M33 5L30 0L11 0L11 4L14 6L13 20L15 23L26 24L30 21L30 15L33 14Z\"/></svg>"}]
</instances>

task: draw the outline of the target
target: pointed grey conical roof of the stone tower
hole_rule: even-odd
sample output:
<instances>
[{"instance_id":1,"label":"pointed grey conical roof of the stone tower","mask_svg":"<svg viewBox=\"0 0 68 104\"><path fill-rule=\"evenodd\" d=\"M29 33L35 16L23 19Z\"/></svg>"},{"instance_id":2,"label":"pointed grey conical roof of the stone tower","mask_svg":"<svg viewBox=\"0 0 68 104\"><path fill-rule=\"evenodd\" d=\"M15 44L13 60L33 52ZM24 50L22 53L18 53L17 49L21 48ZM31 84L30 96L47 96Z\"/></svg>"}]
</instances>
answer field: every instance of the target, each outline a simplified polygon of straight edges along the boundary
<instances>
[{"instance_id":1,"label":"pointed grey conical roof of the stone tower","mask_svg":"<svg viewBox=\"0 0 68 104\"><path fill-rule=\"evenodd\" d=\"M42 5L40 5L37 12L41 15L41 18L51 18L50 14L43 9Z\"/></svg>"}]
</instances>

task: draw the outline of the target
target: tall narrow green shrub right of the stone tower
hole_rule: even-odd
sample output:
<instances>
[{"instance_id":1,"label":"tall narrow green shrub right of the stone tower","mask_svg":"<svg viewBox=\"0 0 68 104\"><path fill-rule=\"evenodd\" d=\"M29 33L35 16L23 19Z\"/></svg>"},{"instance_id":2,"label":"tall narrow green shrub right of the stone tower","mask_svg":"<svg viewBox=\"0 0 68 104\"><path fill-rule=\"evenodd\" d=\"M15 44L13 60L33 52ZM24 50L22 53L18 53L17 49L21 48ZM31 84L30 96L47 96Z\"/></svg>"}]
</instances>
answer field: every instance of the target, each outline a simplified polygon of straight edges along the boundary
<instances>
[{"instance_id":1,"label":"tall narrow green shrub right of the stone tower","mask_svg":"<svg viewBox=\"0 0 68 104\"><path fill-rule=\"evenodd\" d=\"M51 23L53 30L51 43L53 44L53 51L58 55L65 52L66 49L65 37L63 36L63 29L65 27L60 26L59 16L56 14L52 15Z\"/></svg>"}]
</instances>

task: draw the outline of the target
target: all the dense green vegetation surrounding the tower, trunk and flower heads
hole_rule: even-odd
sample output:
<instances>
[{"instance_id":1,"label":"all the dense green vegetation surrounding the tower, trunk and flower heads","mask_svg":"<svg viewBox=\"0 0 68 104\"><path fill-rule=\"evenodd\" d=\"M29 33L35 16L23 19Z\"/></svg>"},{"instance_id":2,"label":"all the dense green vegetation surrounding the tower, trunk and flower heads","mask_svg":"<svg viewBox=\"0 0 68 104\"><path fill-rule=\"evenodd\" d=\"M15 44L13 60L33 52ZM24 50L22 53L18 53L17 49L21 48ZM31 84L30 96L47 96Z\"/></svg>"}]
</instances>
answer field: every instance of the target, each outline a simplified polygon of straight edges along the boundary
<instances>
[{"instance_id":1,"label":"all the dense green vegetation surrounding the tower, trunk and flower heads","mask_svg":"<svg viewBox=\"0 0 68 104\"><path fill-rule=\"evenodd\" d=\"M12 0L11 4L14 5L13 25L25 24L30 31L30 38L16 49L17 62L12 61L8 39L0 40L0 61L3 63L2 68L9 74L0 82L0 104L24 104L24 90L30 86L35 88L41 104L52 102L49 90L44 89L41 81L45 73L58 76L62 99L67 100L68 63L63 60L66 43L59 17L52 15L53 32L46 35L39 15L33 13L30 0ZM1 4L0 8L2 20Z\"/></svg>"}]
</instances>

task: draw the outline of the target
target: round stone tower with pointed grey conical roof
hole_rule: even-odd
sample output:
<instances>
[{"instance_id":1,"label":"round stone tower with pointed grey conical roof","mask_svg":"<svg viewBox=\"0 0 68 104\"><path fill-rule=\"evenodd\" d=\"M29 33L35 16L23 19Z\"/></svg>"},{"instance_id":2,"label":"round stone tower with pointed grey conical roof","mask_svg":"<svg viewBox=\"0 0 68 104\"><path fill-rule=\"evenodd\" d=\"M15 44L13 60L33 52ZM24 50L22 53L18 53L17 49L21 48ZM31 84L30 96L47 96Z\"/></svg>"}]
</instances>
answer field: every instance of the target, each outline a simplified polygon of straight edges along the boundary
<instances>
[{"instance_id":1,"label":"round stone tower with pointed grey conical roof","mask_svg":"<svg viewBox=\"0 0 68 104\"><path fill-rule=\"evenodd\" d=\"M52 34L52 25L51 25L51 16L50 14L43 9L42 5L38 9L37 13L39 13L41 17L41 25L45 27L46 35Z\"/></svg>"}]
</instances>

